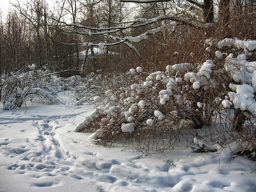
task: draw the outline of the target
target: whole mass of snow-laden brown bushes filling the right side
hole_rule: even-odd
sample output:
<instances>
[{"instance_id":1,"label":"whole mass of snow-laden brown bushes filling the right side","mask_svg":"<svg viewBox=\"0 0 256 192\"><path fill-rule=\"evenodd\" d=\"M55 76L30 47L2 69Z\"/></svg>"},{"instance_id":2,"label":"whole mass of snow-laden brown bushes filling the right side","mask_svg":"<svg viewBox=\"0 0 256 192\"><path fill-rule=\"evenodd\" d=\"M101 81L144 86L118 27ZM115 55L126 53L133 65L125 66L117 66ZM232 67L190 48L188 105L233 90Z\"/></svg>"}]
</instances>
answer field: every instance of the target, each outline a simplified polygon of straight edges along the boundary
<instances>
[{"instance_id":1,"label":"whole mass of snow-laden brown bushes filling the right side","mask_svg":"<svg viewBox=\"0 0 256 192\"><path fill-rule=\"evenodd\" d=\"M237 39L225 39L215 46L244 48L248 56L256 48L255 41ZM183 138L184 131L196 135L197 128L207 125L209 129L217 127L215 135L220 136L222 130L223 136L221 143L212 139L216 145L209 150L223 150L224 143L231 140L246 140L248 148L255 149L256 62L249 62L245 54L234 57L218 50L215 55L203 63L168 65L166 71L147 76L141 67L130 69L125 75L133 82L127 87L117 83L107 88L105 95L96 96L95 110L73 131L94 131L90 139L107 146L125 138L133 143L137 140L138 148L144 151L163 151Z\"/></svg>"}]
</instances>

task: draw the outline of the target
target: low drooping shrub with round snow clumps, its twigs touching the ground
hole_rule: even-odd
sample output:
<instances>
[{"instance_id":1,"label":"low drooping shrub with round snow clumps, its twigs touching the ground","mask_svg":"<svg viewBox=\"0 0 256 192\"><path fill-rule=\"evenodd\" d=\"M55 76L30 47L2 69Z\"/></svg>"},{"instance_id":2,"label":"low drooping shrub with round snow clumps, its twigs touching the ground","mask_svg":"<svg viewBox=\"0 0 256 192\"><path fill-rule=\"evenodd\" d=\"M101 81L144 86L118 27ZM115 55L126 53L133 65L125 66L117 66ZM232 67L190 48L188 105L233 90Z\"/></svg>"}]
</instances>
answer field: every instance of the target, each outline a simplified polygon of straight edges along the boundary
<instances>
[{"instance_id":1,"label":"low drooping shrub with round snow clumps, its twigs touching the ground","mask_svg":"<svg viewBox=\"0 0 256 192\"><path fill-rule=\"evenodd\" d=\"M129 71L118 77L126 76L128 80L126 84L130 83L130 86L124 86L125 84L120 84L120 81L116 81L114 85L113 81L109 81L112 86L104 84L109 88L105 96L100 95L100 100L98 96L95 97L97 108L86 116L74 131L99 132L100 130L101 133L97 134L100 136L95 141L100 140L105 145L118 138L129 139L133 137L134 131L138 132L137 139L151 140L150 132L152 132L152 135L157 135L158 142L162 142L159 143L161 147L157 147L157 150L172 146L175 140L179 139L179 133L183 129L194 126L195 117L191 115L192 102L186 96L187 88L184 87L186 81L182 76L184 71L181 73L184 68L192 70L193 66L185 63L180 66L175 65L170 70L167 66L166 72L148 75L141 74L141 70L137 71L138 74L132 70L133 73ZM179 75L169 76L170 73ZM190 86L192 87L192 84ZM141 148L140 143L138 148Z\"/></svg>"}]
</instances>

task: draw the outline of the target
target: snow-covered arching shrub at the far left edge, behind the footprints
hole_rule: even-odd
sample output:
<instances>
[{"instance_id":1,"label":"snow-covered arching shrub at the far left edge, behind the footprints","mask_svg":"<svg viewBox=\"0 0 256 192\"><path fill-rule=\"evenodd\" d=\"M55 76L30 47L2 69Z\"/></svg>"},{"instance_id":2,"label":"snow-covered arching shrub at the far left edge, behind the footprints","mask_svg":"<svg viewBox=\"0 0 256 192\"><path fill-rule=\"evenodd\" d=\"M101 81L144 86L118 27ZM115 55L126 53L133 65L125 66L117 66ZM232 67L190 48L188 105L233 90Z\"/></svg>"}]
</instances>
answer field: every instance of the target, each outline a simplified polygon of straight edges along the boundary
<instances>
[{"instance_id":1,"label":"snow-covered arching shrub at the far left edge, behind the footprints","mask_svg":"<svg viewBox=\"0 0 256 192\"><path fill-rule=\"evenodd\" d=\"M28 65L28 72L18 71L10 76L3 76L1 87L1 101L4 110L12 110L20 107L24 102L30 100L49 101L55 103L56 87L47 75L49 70L44 66L36 70L36 65Z\"/></svg>"}]
</instances>

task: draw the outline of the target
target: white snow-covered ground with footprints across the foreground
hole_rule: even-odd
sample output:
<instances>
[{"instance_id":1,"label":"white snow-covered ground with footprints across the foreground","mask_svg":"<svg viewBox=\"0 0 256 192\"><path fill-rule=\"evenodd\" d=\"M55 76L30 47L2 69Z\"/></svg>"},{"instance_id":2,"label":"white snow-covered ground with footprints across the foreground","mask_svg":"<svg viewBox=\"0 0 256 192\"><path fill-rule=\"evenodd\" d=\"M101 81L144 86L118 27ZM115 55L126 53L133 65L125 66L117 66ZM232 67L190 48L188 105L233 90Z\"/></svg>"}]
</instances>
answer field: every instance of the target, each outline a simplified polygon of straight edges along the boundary
<instances>
[{"instance_id":1,"label":"white snow-covered ground with footprints across the foreground","mask_svg":"<svg viewBox=\"0 0 256 192\"><path fill-rule=\"evenodd\" d=\"M0 191L255 192L256 162L191 153L141 157L128 145L90 144L70 132L92 105L29 105L0 111ZM254 171L254 172L253 172Z\"/></svg>"}]
</instances>

